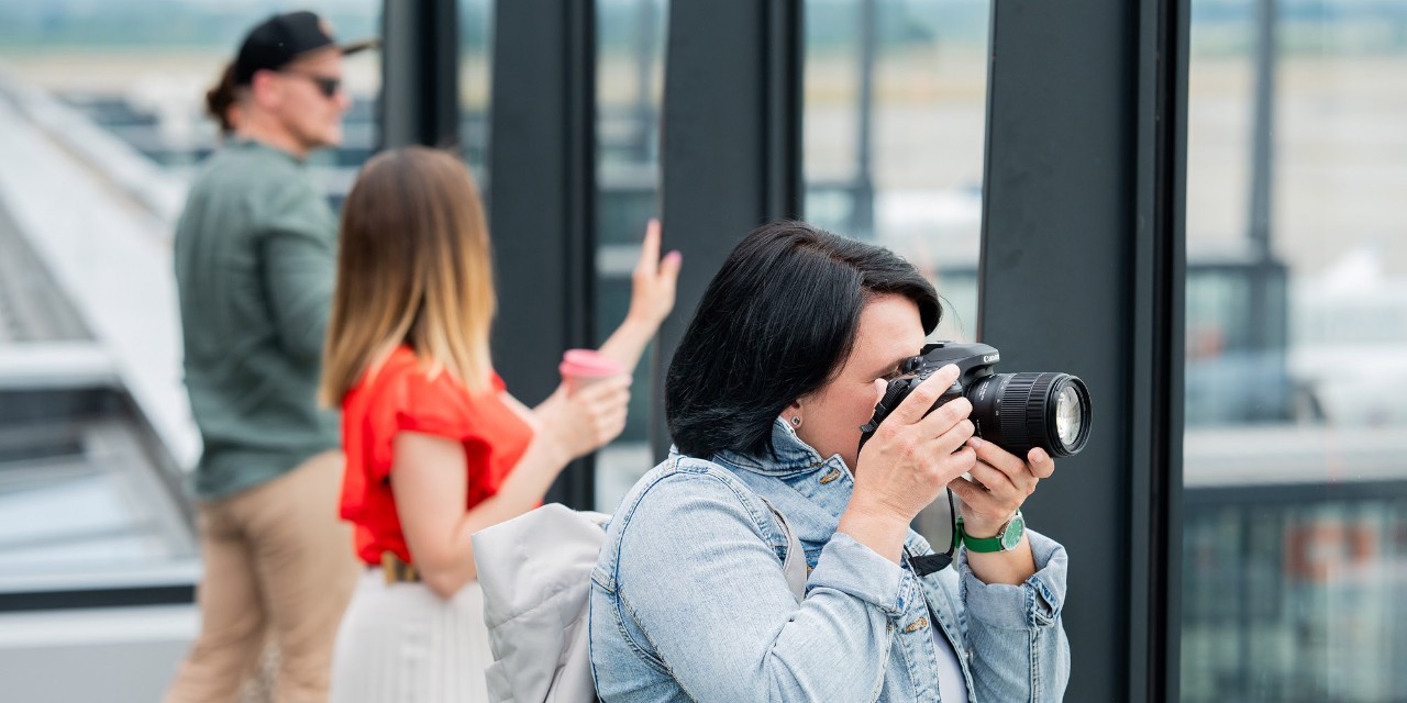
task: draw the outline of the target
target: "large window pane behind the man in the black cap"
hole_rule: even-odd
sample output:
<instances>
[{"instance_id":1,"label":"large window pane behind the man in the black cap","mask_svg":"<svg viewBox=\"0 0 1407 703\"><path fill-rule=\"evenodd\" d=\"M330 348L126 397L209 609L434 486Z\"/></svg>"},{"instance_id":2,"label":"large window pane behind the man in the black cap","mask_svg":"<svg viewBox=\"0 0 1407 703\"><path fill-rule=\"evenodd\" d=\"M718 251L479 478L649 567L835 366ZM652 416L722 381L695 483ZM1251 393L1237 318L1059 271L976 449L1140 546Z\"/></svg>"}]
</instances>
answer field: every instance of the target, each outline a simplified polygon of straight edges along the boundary
<instances>
[{"instance_id":1,"label":"large window pane behind the man in the black cap","mask_svg":"<svg viewBox=\"0 0 1407 703\"><path fill-rule=\"evenodd\" d=\"M376 0L303 3L339 39ZM0 592L190 585L172 235L217 146L205 90L267 3L0 4ZM336 205L376 143L380 56L345 63Z\"/></svg>"}]
</instances>

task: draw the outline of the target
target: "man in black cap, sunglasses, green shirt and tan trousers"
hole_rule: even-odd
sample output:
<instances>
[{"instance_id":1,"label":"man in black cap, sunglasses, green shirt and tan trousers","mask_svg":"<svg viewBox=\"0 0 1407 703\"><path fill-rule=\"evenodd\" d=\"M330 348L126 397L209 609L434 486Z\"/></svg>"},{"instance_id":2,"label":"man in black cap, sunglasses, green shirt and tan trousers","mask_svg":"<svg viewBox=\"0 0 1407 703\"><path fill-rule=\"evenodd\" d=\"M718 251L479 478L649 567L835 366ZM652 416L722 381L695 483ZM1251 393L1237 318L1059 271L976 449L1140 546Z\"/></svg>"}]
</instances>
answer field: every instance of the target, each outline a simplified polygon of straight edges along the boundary
<instances>
[{"instance_id":1,"label":"man in black cap, sunglasses, green shirt and tan trousers","mask_svg":"<svg viewBox=\"0 0 1407 703\"><path fill-rule=\"evenodd\" d=\"M234 700L266 633L276 700L325 700L352 592L338 520L336 415L317 408L336 219L304 159L342 142L342 56L312 13L245 37L208 97L227 132L176 228L186 387L204 450L193 474L204 575L201 630L169 702Z\"/></svg>"}]
</instances>

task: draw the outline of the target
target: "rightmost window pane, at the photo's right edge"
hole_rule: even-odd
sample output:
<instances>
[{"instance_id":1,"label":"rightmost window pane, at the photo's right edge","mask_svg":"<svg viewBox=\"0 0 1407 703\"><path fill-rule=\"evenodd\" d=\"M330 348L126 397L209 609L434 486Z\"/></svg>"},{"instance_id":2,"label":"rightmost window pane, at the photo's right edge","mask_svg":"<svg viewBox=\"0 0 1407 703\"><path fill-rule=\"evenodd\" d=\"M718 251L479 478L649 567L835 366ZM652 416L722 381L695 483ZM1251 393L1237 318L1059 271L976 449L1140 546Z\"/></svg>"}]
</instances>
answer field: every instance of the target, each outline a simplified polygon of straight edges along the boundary
<instances>
[{"instance_id":1,"label":"rightmost window pane, at the photo's right edge","mask_svg":"<svg viewBox=\"0 0 1407 703\"><path fill-rule=\"evenodd\" d=\"M1193 0L1182 697L1407 690L1407 7Z\"/></svg>"}]
</instances>

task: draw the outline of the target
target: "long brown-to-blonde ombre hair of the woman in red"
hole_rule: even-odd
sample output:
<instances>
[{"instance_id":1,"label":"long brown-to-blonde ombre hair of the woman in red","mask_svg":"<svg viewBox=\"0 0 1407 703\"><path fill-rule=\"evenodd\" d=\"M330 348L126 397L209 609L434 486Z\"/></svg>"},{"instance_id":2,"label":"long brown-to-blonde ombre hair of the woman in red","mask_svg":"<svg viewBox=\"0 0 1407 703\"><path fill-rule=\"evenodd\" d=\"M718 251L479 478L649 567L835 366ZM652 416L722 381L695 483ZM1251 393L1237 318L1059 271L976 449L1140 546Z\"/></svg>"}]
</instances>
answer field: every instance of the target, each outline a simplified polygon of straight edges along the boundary
<instances>
[{"instance_id":1,"label":"long brown-to-blonde ombre hair of the woman in red","mask_svg":"<svg viewBox=\"0 0 1407 703\"><path fill-rule=\"evenodd\" d=\"M459 159L411 146L367 162L342 204L318 401L340 405L400 344L432 375L488 388L491 257L478 190Z\"/></svg>"}]
</instances>

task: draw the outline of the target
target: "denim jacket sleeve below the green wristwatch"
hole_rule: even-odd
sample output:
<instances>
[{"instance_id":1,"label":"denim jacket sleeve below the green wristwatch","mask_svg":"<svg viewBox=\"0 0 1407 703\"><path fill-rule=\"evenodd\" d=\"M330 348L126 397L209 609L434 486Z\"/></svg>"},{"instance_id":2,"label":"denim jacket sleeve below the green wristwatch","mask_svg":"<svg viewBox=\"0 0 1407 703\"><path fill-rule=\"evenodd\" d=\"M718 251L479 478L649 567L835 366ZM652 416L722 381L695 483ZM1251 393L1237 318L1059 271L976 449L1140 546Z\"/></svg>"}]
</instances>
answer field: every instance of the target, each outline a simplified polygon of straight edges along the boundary
<instances>
[{"instance_id":1,"label":"denim jacket sleeve below the green wristwatch","mask_svg":"<svg viewBox=\"0 0 1407 703\"><path fill-rule=\"evenodd\" d=\"M958 550L967 640L976 700L1061 700L1069 681L1069 641L1061 624L1069 557L1055 540L1027 530L1038 571L1020 586L988 585Z\"/></svg>"}]
</instances>

